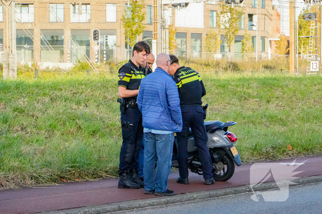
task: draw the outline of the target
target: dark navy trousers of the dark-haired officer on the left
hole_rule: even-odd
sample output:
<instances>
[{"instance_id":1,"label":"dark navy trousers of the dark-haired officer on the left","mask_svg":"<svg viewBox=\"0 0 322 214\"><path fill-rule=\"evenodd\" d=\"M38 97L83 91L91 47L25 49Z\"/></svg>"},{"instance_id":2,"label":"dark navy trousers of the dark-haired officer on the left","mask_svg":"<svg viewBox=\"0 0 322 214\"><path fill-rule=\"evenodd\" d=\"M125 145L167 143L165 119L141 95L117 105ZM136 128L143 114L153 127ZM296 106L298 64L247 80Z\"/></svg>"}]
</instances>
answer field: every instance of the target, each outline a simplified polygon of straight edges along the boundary
<instances>
[{"instance_id":1,"label":"dark navy trousers of the dark-haired officer on the left","mask_svg":"<svg viewBox=\"0 0 322 214\"><path fill-rule=\"evenodd\" d=\"M118 174L130 169L137 169L137 156L143 138L142 114L136 107L128 107L121 114L123 143L120 151Z\"/></svg>"}]
</instances>

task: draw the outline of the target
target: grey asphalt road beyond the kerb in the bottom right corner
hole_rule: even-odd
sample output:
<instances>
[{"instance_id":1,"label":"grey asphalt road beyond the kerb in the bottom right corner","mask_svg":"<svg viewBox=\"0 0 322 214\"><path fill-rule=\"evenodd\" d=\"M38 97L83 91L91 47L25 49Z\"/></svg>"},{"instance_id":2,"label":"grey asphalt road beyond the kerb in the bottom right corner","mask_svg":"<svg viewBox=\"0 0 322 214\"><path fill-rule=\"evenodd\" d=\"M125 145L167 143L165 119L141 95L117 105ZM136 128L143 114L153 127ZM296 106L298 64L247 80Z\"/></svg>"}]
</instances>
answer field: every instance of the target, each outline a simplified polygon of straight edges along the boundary
<instances>
[{"instance_id":1,"label":"grey asphalt road beyond the kerb in the bottom right corner","mask_svg":"<svg viewBox=\"0 0 322 214\"><path fill-rule=\"evenodd\" d=\"M259 202L255 202L251 199L252 194L253 193L244 193L215 199L197 200L166 206L122 211L116 213L322 213L322 183L290 187L289 198L283 202L265 202L263 198L261 198Z\"/></svg>"}]
</instances>

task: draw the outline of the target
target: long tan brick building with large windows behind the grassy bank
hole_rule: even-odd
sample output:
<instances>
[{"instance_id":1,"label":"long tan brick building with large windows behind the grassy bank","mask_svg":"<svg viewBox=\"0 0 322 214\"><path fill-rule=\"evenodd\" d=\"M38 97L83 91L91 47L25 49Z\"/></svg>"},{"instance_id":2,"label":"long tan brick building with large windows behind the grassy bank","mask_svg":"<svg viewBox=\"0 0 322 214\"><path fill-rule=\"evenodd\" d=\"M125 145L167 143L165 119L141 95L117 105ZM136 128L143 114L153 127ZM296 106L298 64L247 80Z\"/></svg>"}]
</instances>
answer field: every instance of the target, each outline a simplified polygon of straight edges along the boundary
<instances>
[{"instance_id":1,"label":"long tan brick building with large windows behind the grassy bank","mask_svg":"<svg viewBox=\"0 0 322 214\"><path fill-rule=\"evenodd\" d=\"M258 14L256 3L258 2ZM145 1L145 31L138 39L152 44L152 0ZM124 60L126 41L123 35L122 14L130 5L124 1L92 0L82 1L81 12L78 2L38 0L16 2L16 39L19 61L73 63L77 59L88 57L95 62L95 51L91 47L92 30L100 30L100 61ZM244 0L240 5L245 8L239 23L240 32L235 38L232 51L239 53L245 30L252 35L252 42L259 53L268 53L269 39L277 38L276 20L279 16L273 10L271 0ZM189 3L180 10L172 8L164 11L164 17L177 29L177 54L201 56L204 52L205 37L210 28L218 30L217 12L219 1ZM0 42L7 45L7 31L4 20L6 8L0 6ZM253 25L253 26L251 26ZM256 42L256 27L258 41ZM223 35L220 52L227 52ZM104 53L105 52L105 53ZM219 52L219 50L218 50ZM105 56L104 56L105 55Z\"/></svg>"}]
</instances>

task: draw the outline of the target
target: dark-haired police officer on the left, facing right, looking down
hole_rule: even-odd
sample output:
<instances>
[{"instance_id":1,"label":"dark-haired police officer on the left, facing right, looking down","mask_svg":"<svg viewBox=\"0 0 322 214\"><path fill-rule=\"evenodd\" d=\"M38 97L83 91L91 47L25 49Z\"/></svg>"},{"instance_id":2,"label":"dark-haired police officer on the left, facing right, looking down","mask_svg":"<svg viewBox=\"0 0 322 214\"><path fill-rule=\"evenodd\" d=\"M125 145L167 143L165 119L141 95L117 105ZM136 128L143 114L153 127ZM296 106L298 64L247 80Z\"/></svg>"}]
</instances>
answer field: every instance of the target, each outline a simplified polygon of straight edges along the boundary
<instances>
[{"instance_id":1,"label":"dark-haired police officer on the left, facing right, looking down","mask_svg":"<svg viewBox=\"0 0 322 214\"><path fill-rule=\"evenodd\" d=\"M137 108L137 94L142 78L143 68L150 47L145 41L133 46L132 59L118 71L118 95L120 102L121 127L123 143L120 151L118 188L138 189L144 187L138 177L137 156L143 138L142 114Z\"/></svg>"}]
</instances>

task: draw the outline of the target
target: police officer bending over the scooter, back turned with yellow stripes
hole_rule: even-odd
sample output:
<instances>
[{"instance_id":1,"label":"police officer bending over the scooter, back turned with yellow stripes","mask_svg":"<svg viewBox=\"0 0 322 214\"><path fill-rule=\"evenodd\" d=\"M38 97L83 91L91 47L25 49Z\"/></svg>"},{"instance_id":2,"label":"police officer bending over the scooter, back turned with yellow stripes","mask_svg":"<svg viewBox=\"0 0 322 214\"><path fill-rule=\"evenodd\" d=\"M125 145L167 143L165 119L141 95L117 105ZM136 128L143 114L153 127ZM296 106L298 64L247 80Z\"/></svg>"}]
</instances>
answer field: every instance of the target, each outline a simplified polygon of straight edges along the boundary
<instances>
[{"instance_id":1,"label":"police officer bending over the scooter, back turned with yellow stripes","mask_svg":"<svg viewBox=\"0 0 322 214\"><path fill-rule=\"evenodd\" d=\"M181 133L177 133L179 175L177 183L189 184L188 179L188 133L191 128L194 141L199 154L199 160L203 166L206 185L214 184L213 166L207 147L208 136L204 126L204 110L201 106L201 98L206 95L204 83L200 75L191 68L181 66L176 56L170 55L171 65L169 74L173 75L177 83L180 107L183 120Z\"/></svg>"}]
</instances>

